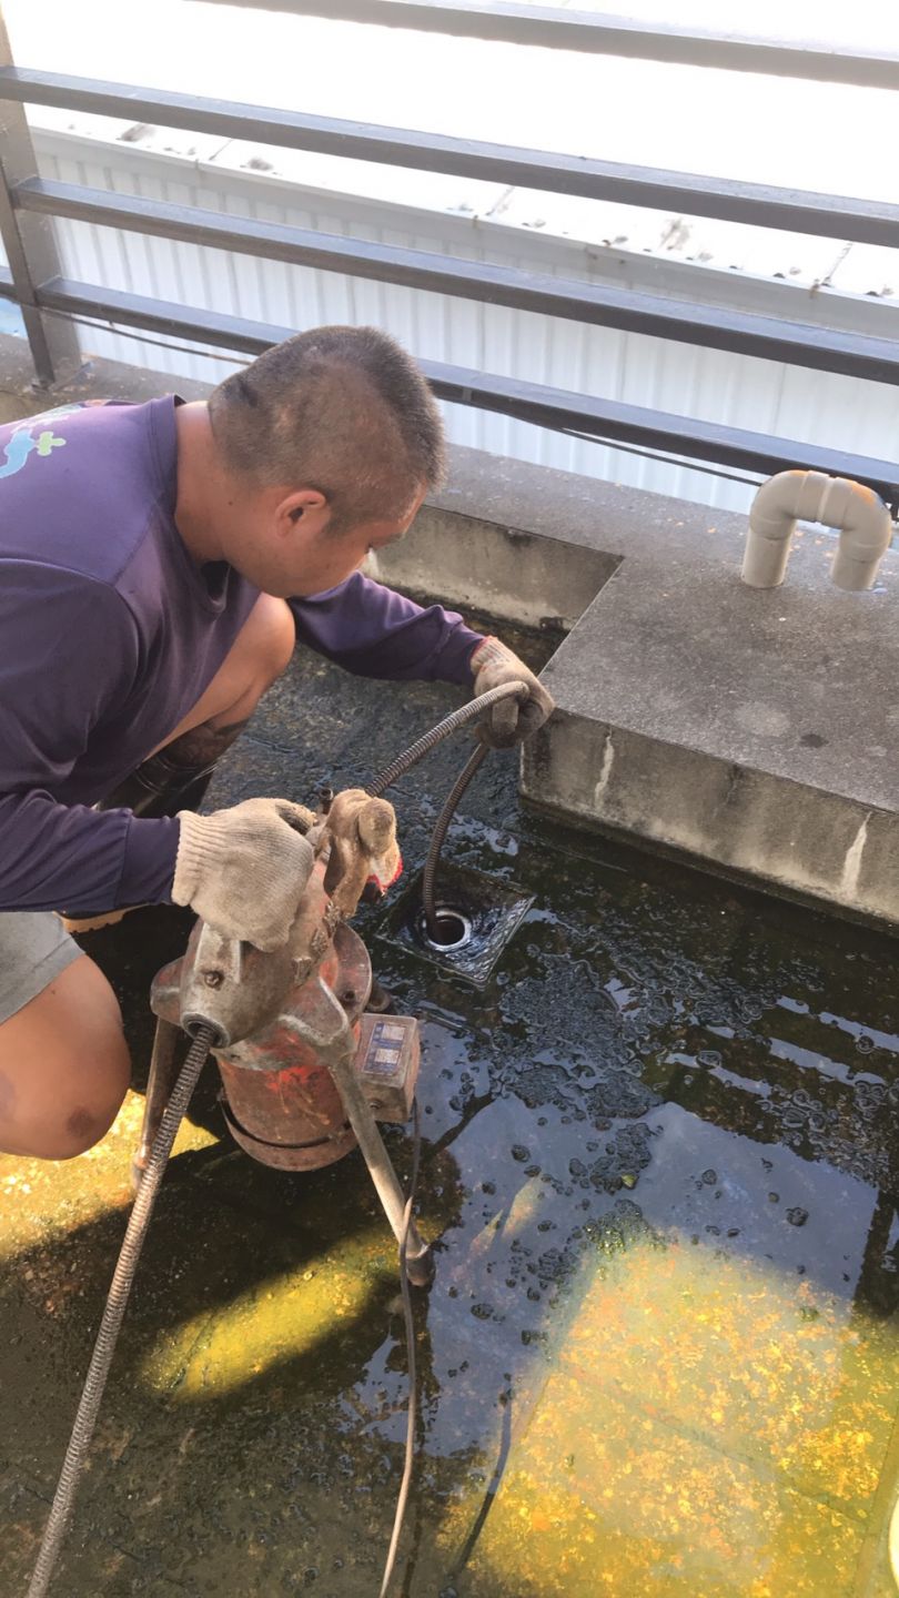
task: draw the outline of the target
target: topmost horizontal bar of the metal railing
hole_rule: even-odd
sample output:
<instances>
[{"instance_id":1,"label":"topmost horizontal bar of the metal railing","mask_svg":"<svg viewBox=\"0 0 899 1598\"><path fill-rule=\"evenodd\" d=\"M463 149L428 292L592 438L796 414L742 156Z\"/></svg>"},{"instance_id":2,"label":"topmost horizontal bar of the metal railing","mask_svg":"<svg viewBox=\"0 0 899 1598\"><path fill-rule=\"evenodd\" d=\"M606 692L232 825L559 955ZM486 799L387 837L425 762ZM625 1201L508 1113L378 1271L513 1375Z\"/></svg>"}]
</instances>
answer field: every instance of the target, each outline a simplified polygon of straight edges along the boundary
<instances>
[{"instance_id":1,"label":"topmost horizontal bar of the metal railing","mask_svg":"<svg viewBox=\"0 0 899 1598\"><path fill-rule=\"evenodd\" d=\"M712 29L669 22L640 22L597 11L563 11L560 6L459 5L459 0L227 0L259 11L322 16L331 22L371 22L424 34L454 34L494 43L533 45L542 50L577 50L672 66L723 67L773 77L813 78L819 83L854 83L862 88L899 88L899 54L889 50L854 50L849 45L789 45L776 38L718 34Z\"/></svg>"}]
</instances>

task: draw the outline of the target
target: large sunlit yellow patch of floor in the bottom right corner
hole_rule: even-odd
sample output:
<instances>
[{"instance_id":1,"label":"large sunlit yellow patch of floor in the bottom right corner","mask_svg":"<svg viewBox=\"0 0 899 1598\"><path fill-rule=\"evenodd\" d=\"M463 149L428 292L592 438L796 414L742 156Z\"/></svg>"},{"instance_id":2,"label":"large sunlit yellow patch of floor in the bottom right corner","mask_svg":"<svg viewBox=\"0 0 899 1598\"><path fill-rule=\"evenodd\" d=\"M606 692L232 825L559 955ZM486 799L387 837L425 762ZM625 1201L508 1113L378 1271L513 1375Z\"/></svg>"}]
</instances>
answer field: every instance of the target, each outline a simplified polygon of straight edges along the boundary
<instances>
[{"instance_id":1,"label":"large sunlit yellow patch of floor in the bottom right corner","mask_svg":"<svg viewBox=\"0 0 899 1598\"><path fill-rule=\"evenodd\" d=\"M513 1398L473 1590L480 1571L517 1598L886 1598L897 1347L808 1278L678 1238L593 1261L542 1387Z\"/></svg>"}]
</instances>

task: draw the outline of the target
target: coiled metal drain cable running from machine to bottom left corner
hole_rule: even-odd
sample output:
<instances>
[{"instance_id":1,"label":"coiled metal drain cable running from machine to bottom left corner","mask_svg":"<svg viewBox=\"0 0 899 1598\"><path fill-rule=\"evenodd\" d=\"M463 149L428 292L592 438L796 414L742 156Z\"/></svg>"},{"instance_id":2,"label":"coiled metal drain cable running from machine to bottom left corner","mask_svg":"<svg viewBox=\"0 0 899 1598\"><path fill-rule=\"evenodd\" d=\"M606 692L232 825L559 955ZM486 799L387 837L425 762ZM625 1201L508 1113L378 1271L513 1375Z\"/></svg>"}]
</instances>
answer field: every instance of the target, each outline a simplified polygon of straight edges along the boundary
<instances>
[{"instance_id":1,"label":"coiled metal drain cable running from machine to bottom left corner","mask_svg":"<svg viewBox=\"0 0 899 1598\"><path fill-rule=\"evenodd\" d=\"M72 1437L69 1438L69 1448L66 1449L66 1459L62 1461L62 1470L59 1472L53 1507L50 1510L43 1540L37 1555L27 1598L45 1598L45 1593L50 1588L59 1548L72 1517L75 1493L85 1467L85 1457L94 1432L106 1379L109 1376L109 1366L112 1365L112 1357L115 1354L122 1318L134 1283L134 1272L147 1237L147 1227L150 1224L163 1171L182 1115L190 1103L190 1095L197 1087L200 1071L203 1069L206 1055L214 1042L214 1028L202 1026L197 1031L197 1036L187 1051L187 1058L181 1067L178 1082L174 1083L160 1130L155 1136L147 1168L141 1178L141 1186L138 1187L131 1214L128 1218L125 1240L115 1264L112 1286L106 1299L102 1320L94 1342L94 1352L91 1355L88 1376L82 1392L82 1401L78 1403Z\"/></svg>"}]
</instances>

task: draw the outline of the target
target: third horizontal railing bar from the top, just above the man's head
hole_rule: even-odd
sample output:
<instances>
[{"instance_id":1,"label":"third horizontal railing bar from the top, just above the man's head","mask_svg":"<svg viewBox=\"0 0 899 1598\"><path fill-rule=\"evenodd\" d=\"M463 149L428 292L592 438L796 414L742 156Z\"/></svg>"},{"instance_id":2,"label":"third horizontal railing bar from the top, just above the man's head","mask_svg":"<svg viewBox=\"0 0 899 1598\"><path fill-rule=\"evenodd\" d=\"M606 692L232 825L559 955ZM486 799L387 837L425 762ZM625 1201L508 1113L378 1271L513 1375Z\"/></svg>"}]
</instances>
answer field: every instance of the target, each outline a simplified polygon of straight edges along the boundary
<instances>
[{"instance_id":1,"label":"third horizontal railing bar from the top, just above the man's head","mask_svg":"<svg viewBox=\"0 0 899 1598\"><path fill-rule=\"evenodd\" d=\"M689 304L635 289L576 283L515 267L314 233L280 222L229 217L226 224L218 213L200 206L144 200L42 177L16 184L13 200L19 209L42 216L64 216L99 227L232 249L320 272L486 300L622 332L787 361L814 371L899 382L899 344L870 334L849 334L729 307Z\"/></svg>"}]
</instances>

